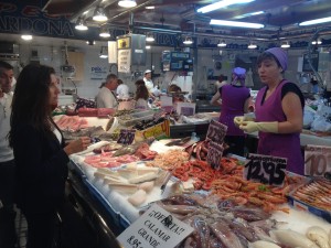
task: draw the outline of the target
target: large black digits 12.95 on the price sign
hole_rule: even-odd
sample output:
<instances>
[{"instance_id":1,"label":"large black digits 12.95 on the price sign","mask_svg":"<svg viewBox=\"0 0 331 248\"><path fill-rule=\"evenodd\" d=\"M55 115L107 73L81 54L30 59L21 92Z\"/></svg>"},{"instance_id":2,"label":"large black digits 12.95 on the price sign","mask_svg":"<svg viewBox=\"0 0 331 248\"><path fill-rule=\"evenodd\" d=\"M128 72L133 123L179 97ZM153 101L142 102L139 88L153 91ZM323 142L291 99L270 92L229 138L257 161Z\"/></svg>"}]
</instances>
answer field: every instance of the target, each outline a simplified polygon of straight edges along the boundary
<instances>
[{"instance_id":1,"label":"large black digits 12.95 on the price sign","mask_svg":"<svg viewBox=\"0 0 331 248\"><path fill-rule=\"evenodd\" d=\"M245 165L246 180L258 181L269 185L282 185L286 163L250 160Z\"/></svg>"}]
</instances>

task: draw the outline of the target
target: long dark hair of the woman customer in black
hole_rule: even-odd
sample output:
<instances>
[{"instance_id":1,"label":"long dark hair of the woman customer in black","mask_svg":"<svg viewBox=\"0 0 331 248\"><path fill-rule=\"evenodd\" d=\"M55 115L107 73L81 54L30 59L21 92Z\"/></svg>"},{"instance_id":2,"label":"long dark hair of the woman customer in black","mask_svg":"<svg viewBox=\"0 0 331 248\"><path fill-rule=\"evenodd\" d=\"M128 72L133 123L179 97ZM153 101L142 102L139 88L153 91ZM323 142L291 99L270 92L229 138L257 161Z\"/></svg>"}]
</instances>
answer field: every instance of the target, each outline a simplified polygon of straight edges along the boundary
<instances>
[{"instance_id":1,"label":"long dark hair of the woman customer in black","mask_svg":"<svg viewBox=\"0 0 331 248\"><path fill-rule=\"evenodd\" d=\"M20 73L10 117L9 142L11 147L20 123L31 125L44 133L51 131L52 107L49 103L51 74L55 74L53 67L39 64L29 64Z\"/></svg>"}]
</instances>

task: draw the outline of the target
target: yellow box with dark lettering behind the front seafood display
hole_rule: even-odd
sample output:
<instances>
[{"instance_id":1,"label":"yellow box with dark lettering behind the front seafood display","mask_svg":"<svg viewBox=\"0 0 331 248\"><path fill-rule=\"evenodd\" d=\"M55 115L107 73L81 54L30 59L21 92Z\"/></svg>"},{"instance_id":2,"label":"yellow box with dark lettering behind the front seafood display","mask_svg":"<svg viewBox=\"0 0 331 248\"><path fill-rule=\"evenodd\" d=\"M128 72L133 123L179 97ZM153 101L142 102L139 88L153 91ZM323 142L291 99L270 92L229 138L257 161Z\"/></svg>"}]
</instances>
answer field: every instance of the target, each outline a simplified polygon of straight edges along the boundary
<instances>
[{"instance_id":1,"label":"yellow box with dark lettering behind the front seafood display","mask_svg":"<svg viewBox=\"0 0 331 248\"><path fill-rule=\"evenodd\" d=\"M156 139L163 139L170 136L170 121L164 120L153 127L147 128L145 130L137 130L135 134L135 141L142 141L147 138L154 137Z\"/></svg>"}]
</instances>

